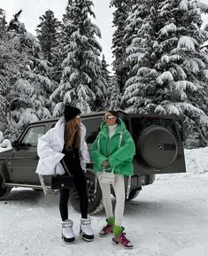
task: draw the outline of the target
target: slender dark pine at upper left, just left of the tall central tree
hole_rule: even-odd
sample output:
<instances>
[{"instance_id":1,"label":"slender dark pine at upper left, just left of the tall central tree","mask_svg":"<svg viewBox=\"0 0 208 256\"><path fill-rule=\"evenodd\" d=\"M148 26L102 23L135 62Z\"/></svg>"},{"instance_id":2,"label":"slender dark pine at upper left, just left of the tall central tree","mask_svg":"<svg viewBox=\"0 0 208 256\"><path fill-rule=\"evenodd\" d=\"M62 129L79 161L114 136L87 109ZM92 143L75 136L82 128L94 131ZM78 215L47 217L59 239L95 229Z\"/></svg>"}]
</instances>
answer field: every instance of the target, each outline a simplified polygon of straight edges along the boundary
<instances>
[{"instance_id":1,"label":"slender dark pine at upper left, just left of the tall central tree","mask_svg":"<svg viewBox=\"0 0 208 256\"><path fill-rule=\"evenodd\" d=\"M48 10L40 18L36 28L36 37L42 47L43 57L50 62L50 80L57 81L61 78L61 22L54 17L54 12ZM54 89L53 89L54 90Z\"/></svg>"}]
</instances>

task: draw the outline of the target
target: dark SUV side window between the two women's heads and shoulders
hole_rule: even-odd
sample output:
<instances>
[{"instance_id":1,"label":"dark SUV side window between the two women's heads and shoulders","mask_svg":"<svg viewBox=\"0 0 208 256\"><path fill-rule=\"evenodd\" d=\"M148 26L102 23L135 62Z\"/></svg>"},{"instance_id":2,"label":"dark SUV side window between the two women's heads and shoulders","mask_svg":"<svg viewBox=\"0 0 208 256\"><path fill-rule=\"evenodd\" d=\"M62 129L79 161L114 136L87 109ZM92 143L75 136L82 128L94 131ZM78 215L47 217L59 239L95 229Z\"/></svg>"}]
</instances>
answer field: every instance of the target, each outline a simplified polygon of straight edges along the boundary
<instances>
[{"instance_id":1,"label":"dark SUV side window between the two women's heads and shoulders","mask_svg":"<svg viewBox=\"0 0 208 256\"><path fill-rule=\"evenodd\" d=\"M86 127L86 142L87 144L93 144L96 136L100 131L100 125L102 123L102 117L90 118L82 120L82 123Z\"/></svg>"}]
</instances>

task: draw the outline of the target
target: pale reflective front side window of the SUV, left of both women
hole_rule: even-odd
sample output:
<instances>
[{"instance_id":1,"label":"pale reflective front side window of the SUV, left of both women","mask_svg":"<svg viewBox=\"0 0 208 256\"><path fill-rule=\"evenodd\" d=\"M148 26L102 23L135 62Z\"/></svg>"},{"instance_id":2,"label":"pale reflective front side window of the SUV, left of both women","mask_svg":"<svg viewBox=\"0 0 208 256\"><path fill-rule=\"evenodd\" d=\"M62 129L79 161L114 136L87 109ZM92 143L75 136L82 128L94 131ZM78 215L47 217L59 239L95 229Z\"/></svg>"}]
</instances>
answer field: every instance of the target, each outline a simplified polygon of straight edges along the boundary
<instances>
[{"instance_id":1,"label":"pale reflective front side window of the SUV, left of both women","mask_svg":"<svg viewBox=\"0 0 208 256\"><path fill-rule=\"evenodd\" d=\"M24 136L21 144L30 144L36 146L38 139L44 134L45 127L33 127L27 130L27 134Z\"/></svg>"}]
</instances>

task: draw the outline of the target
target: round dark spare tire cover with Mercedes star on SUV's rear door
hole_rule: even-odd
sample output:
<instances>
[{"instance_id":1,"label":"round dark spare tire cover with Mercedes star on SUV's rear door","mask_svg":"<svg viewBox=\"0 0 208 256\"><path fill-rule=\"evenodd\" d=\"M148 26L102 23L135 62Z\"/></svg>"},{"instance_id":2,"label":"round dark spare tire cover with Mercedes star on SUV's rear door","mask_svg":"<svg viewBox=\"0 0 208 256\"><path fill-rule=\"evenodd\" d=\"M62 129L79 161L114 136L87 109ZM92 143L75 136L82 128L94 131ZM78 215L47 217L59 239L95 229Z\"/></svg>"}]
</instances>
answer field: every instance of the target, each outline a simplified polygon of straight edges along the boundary
<instances>
[{"instance_id":1,"label":"round dark spare tire cover with Mercedes star on SUV's rear door","mask_svg":"<svg viewBox=\"0 0 208 256\"><path fill-rule=\"evenodd\" d=\"M166 128L145 128L139 137L137 149L143 160L155 168L169 167L177 157L178 147L173 134Z\"/></svg>"}]
</instances>

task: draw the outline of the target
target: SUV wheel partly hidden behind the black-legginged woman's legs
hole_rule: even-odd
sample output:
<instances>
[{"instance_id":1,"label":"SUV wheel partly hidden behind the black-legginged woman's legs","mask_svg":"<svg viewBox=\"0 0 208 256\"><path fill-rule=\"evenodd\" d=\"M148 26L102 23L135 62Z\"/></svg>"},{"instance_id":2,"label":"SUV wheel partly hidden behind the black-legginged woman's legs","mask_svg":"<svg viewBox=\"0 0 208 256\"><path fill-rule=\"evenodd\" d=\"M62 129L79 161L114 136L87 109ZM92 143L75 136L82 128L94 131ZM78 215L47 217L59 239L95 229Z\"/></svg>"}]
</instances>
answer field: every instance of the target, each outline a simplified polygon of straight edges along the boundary
<instances>
[{"instance_id":1,"label":"SUV wheel partly hidden behind the black-legginged woman's legs","mask_svg":"<svg viewBox=\"0 0 208 256\"><path fill-rule=\"evenodd\" d=\"M96 182L95 174L91 170L87 170L85 176L87 179L87 190L89 195L89 213L98 213L104 208L102 191L100 189L98 182ZM95 182L96 193L94 194ZM70 190L69 201L73 206L73 209L80 213L80 199L78 192L74 187L73 189Z\"/></svg>"}]
</instances>

